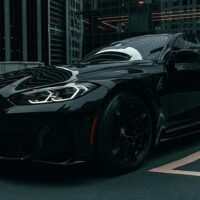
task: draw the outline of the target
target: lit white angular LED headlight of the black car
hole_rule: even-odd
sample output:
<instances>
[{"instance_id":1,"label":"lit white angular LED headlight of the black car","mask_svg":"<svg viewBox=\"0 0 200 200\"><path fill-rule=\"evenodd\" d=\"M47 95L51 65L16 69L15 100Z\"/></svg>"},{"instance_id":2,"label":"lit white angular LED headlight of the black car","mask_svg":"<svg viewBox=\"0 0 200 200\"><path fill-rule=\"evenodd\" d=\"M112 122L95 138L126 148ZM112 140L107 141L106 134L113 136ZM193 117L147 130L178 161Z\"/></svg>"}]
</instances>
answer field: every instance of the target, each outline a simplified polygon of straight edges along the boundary
<instances>
[{"instance_id":1,"label":"lit white angular LED headlight of the black car","mask_svg":"<svg viewBox=\"0 0 200 200\"><path fill-rule=\"evenodd\" d=\"M96 87L92 83L69 83L65 86L43 88L14 95L10 100L17 105L62 102L82 96Z\"/></svg>"}]
</instances>

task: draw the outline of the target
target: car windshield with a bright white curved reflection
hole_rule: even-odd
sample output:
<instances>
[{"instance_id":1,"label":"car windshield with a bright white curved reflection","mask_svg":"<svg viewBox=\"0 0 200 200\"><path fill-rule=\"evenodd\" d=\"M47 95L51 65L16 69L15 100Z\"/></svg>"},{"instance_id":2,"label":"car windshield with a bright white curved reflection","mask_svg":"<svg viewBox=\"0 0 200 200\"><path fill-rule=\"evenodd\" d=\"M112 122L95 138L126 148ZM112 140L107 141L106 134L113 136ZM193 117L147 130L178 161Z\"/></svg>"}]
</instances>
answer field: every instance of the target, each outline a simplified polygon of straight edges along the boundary
<instances>
[{"instance_id":1,"label":"car windshield with a bright white curved reflection","mask_svg":"<svg viewBox=\"0 0 200 200\"><path fill-rule=\"evenodd\" d=\"M122 40L93 51L81 62L157 60L169 38L170 35L164 34Z\"/></svg>"}]
</instances>

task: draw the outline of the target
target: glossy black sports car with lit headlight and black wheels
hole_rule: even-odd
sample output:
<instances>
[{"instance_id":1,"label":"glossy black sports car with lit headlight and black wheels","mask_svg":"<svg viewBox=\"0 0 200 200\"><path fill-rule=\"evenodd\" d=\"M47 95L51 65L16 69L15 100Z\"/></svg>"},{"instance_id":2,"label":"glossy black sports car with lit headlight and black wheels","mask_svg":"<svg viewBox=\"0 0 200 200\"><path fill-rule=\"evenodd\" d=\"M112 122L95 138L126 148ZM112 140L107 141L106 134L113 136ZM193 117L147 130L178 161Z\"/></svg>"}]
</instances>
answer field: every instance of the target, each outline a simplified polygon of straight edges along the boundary
<instances>
[{"instance_id":1,"label":"glossy black sports car with lit headlight and black wheels","mask_svg":"<svg viewBox=\"0 0 200 200\"><path fill-rule=\"evenodd\" d=\"M1 75L0 159L133 169L153 144L199 132L199 50L195 35L146 35Z\"/></svg>"}]
</instances>

